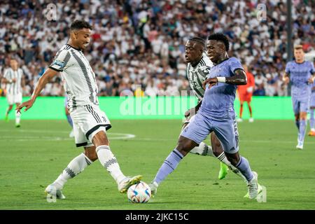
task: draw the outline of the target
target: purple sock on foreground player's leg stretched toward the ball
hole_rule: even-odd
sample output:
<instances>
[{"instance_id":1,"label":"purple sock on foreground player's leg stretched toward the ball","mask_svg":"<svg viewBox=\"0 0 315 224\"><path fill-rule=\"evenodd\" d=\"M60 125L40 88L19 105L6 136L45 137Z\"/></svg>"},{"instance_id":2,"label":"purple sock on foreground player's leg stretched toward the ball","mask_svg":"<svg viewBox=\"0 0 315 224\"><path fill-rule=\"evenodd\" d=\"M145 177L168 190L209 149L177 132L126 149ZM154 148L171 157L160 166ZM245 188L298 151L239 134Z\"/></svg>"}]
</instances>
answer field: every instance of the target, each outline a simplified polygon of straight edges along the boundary
<instances>
[{"instance_id":1,"label":"purple sock on foreground player's leg stretched toward the ball","mask_svg":"<svg viewBox=\"0 0 315 224\"><path fill-rule=\"evenodd\" d=\"M158 174L155 176L154 181L160 184L170 173L174 171L174 169L176 169L182 159L183 155L175 148L172 153L169 153L169 156L163 162Z\"/></svg>"}]
</instances>

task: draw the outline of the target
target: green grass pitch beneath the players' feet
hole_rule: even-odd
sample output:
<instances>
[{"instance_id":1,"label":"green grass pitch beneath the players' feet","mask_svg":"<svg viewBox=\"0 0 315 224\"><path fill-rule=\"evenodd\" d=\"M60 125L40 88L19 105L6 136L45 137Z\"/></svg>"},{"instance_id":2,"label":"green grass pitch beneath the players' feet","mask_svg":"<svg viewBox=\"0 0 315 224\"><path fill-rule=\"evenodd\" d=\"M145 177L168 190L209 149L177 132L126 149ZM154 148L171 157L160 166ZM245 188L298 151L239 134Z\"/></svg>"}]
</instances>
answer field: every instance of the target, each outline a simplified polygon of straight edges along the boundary
<instances>
[{"instance_id":1,"label":"green grass pitch beneath the players' feet","mask_svg":"<svg viewBox=\"0 0 315 224\"><path fill-rule=\"evenodd\" d=\"M176 146L181 120L112 120L111 149L126 175L149 183ZM243 198L245 183L232 172L219 181L218 160L188 155L147 204L132 204L100 163L66 183L66 200L46 202L45 187L83 148L68 137L66 120L0 121L0 209L315 209L315 137L295 149L293 121L239 123L240 153L267 188L267 202ZM119 139L134 134L132 139ZM207 140L209 143L209 140Z\"/></svg>"}]
</instances>

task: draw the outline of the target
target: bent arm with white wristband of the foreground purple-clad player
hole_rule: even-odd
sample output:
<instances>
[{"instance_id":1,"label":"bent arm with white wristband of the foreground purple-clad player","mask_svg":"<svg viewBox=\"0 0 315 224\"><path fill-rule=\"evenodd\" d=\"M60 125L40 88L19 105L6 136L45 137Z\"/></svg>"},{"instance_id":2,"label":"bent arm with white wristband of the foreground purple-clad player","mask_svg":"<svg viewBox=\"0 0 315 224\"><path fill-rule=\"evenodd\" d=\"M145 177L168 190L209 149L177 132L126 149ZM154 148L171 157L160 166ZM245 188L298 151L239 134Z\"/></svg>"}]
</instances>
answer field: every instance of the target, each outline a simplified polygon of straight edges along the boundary
<instances>
[{"instance_id":1,"label":"bent arm with white wristband of the foreground purple-clad player","mask_svg":"<svg viewBox=\"0 0 315 224\"><path fill-rule=\"evenodd\" d=\"M215 77L215 78L207 78L202 83L202 87L206 89L206 85L209 84L209 88L216 85L217 83L227 83L231 85L246 85L247 78L246 73L243 69L235 70L235 76L232 77Z\"/></svg>"}]
</instances>

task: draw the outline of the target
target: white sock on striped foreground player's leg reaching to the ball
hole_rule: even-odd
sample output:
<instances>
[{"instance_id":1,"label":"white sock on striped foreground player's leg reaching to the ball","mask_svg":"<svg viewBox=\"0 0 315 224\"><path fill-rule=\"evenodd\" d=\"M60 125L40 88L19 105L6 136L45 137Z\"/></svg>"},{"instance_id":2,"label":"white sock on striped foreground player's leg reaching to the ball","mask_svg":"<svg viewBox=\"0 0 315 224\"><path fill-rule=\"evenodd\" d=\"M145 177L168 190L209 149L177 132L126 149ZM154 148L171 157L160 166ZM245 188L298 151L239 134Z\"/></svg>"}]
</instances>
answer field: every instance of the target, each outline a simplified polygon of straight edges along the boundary
<instances>
[{"instance_id":1,"label":"white sock on striped foreground player's leg reaching to the ball","mask_svg":"<svg viewBox=\"0 0 315 224\"><path fill-rule=\"evenodd\" d=\"M118 161L111 152L111 148L109 146L98 146L96 152L99 162L113 176L116 183L123 181L126 176L121 172Z\"/></svg>"}]
</instances>

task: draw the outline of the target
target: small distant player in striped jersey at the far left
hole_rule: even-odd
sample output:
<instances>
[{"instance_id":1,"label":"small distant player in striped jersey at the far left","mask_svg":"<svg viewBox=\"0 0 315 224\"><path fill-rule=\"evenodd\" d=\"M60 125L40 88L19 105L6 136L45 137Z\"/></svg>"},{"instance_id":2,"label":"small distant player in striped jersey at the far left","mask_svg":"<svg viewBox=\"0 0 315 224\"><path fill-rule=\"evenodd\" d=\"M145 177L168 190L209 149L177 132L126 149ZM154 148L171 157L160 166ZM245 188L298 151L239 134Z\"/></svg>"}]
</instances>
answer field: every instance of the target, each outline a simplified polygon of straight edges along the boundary
<instances>
[{"instance_id":1,"label":"small distant player in striped jersey at the far left","mask_svg":"<svg viewBox=\"0 0 315 224\"><path fill-rule=\"evenodd\" d=\"M5 120L13 109L13 104L18 107L22 102L22 85L24 85L23 71L18 67L16 59L10 59L10 68L4 71L3 83L6 83L6 99L8 109L6 110ZM20 127L20 113L15 111L15 127Z\"/></svg>"}]
</instances>

